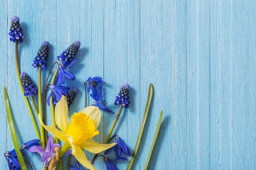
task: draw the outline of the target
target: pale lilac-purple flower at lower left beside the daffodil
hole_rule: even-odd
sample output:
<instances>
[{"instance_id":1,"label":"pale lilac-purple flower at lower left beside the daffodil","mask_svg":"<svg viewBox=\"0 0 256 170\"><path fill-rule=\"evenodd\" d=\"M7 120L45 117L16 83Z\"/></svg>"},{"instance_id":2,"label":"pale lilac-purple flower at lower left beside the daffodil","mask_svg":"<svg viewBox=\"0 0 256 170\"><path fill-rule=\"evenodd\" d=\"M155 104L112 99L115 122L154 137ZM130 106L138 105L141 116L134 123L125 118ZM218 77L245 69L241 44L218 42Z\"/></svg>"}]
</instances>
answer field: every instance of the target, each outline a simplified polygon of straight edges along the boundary
<instances>
[{"instance_id":1,"label":"pale lilac-purple flower at lower left beside the daffodil","mask_svg":"<svg viewBox=\"0 0 256 170\"><path fill-rule=\"evenodd\" d=\"M53 143L52 136L49 135L48 143L45 150L43 149L43 147L41 147L41 145L32 146L29 148L28 153L39 153L41 155L41 161L44 162L44 167L48 167L49 162L55 156L55 147L61 147L61 145L58 143Z\"/></svg>"}]
</instances>

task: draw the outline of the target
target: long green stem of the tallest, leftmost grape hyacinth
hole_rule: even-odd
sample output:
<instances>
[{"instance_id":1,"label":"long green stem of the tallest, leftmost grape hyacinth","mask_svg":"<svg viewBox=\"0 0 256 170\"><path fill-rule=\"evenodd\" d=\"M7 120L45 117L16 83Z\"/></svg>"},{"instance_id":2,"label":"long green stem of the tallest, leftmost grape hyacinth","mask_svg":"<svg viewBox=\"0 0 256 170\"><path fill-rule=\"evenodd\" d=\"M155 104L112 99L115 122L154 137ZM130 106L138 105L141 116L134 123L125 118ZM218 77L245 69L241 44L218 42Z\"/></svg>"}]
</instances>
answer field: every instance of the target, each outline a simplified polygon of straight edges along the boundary
<instances>
[{"instance_id":1,"label":"long green stem of the tallest, leftmost grape hyacinth","mask_svg":"<svg viewBox=\"0 0 256 170\"><path fill-rule=\"evenodd\" d=\"M35 123L35 118L34 118L32 109L31 109L31 107L29 105L29 100L27 99L26 96L24 96L24 89L22 87L22 83L21 83L21 80L20 80L20 69L19 69L19 59L18 59L18 42L17 41L15 42L15 66L16 66L17 79L18 79L18 82L20 84L20 89L21 89L22 95L24 97L26 106L27 106L27 108L29 110L29 114L30 114L31 120L32 120L34 128L35 128L35 133L36 133L38 139L41 140L40 133L39 133L38 128L37 128L36 123Z\"/></svg>"}]
</instances>

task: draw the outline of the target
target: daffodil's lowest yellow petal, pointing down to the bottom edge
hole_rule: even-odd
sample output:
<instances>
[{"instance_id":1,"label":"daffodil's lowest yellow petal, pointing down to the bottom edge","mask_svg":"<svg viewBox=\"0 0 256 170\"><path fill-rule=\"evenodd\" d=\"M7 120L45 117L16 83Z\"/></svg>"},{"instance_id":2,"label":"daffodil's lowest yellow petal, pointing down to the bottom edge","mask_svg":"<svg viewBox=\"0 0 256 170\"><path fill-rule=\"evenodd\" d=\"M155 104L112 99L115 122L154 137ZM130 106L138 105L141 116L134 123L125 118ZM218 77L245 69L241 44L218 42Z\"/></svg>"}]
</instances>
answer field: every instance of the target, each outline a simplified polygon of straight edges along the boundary
<instances>
[{"instance_id":1,"label":"daffodil's lowest yellow petal, pointing down to the bottom edge","mask_svg":"<svg viewBox=\"0 0 256 170\"><path fill-rule=\"evenodd\" d=\"M75 146L74 144L71 144L72 147L72 154L76 157L76 159L84 166L87 167L90 170L96 170L96 168L93 166L93 164L90 163L90 161L86 158L84 151L79 146Z\"/></svg>"}]
</instances>

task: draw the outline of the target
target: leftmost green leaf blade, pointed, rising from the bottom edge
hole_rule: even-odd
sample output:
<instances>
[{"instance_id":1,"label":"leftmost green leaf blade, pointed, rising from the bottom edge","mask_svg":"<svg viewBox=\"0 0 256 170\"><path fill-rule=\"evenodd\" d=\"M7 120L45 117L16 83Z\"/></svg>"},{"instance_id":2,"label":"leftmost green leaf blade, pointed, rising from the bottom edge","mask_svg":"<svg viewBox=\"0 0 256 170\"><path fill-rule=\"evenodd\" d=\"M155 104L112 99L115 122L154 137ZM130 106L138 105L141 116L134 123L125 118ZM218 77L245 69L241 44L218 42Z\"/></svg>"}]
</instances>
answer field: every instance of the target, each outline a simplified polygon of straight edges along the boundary
<instances>
[{"instance_id":1,"label":"leftmost green leaf blade, pointed, rising from the bottom edge","mask_svg":"<svg viewBox=\"0 0 256 170\"><path fill-rule=\"evenodd\" d=\"M12 112L11 112L10 104L9 104L9 98L8 98L8 94L7 94L5 86L3 86L3 92L4 92L4 99L5 99L5 105L6 105L6 113L7 113L8 124L9 124L9 127L10 127L11 136L12 136L12 142L13 142L15 151L17 153L17 157L18 157L18 160L20 162L21 169L22 170L27 170L26 163L24 161L23 155L20 152L20 144L18 142L17 135L16 135L16 132L15 132L14 122L13 122L13 119L12 119Z\"/></svg>"}]
</instances>

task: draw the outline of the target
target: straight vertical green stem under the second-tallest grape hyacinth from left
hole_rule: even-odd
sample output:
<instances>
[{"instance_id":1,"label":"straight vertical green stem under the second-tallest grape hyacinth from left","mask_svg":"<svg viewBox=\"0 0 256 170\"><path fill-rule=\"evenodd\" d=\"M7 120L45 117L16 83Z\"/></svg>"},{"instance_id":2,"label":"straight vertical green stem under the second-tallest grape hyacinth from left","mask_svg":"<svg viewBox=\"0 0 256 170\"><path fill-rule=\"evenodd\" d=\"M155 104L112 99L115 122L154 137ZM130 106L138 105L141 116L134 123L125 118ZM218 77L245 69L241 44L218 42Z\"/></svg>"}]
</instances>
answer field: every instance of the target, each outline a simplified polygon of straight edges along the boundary
<instances>
[{"instance_id":1,"label":"straight vertical green stem under the second-tallest grape hyacinth from left","mask_svg":"<svg viewBox=\"0 0 256 170\"><path fill-rule=\"evenodd\" d=\"M43 121L42 115L42 88L41 88L41 65L38 66L38 108L39 108L39 115ZM41 146L45 149L45 138L44 138L44 127L40 124L40 134L41 134Z\"/></svg>"}]
</instances>

